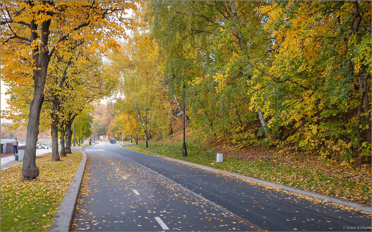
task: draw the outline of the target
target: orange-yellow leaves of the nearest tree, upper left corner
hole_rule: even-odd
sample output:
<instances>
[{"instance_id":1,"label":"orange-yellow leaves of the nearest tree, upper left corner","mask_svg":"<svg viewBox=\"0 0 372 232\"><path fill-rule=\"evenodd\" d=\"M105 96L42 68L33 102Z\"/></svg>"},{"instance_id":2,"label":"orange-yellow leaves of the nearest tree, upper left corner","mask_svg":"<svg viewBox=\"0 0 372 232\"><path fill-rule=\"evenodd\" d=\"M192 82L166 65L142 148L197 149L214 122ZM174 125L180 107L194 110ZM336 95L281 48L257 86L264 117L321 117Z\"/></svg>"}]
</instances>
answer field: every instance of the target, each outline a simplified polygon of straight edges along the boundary
<instances>
[{"instance_id":1,"label":"orange-yellow leaves of the nearest tree, upper left corner","mask_svg":"<svg viewBox=\"0 0 372 232\"><path fill-rule=\"evenodd\" d=\"M89 53L106 53L118 47L115 39L125 38L130 29L126 10L137 9L135 1L7 1L1 4L13 22L1 26L1 78L16 84L31 84L30 76L39 67L32 60L46 46L49 52L55 48L63 57L72 43L89 44ZM22 9L22 10L20 10ZM41 31L43 22L50 20L48 44L41 43L46 32ZM27 24L37 26L32 33ZM44 34L43 34L44 33ZM66 48L67 47L67 48ZM35 48L39 48L35 52Z\"/></svg>"}]
</instances>

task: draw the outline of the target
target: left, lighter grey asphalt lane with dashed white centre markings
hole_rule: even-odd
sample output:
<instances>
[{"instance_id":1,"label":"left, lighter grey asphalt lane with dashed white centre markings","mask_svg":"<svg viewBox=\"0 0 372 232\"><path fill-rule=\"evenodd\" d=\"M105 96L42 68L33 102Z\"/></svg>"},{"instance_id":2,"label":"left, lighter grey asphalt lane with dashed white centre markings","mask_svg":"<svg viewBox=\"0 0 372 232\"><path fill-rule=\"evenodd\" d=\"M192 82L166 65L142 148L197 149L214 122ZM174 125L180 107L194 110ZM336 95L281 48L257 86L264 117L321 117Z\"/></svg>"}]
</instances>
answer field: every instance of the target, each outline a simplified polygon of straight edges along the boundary
<instances>
[{"instance_id":1,"label":"left, lighter grey asphalt lane with dashed white centre markings","mask_svg":"<svg viewBox=\"0 0 372 232\"><path fill-rule=\"evenodd\" d=\"M106 149L122 149L119 144L106 145L84 148L88 155L85 186L80 190L71 231L263 230Z\"/></svg>"}]
</instances>

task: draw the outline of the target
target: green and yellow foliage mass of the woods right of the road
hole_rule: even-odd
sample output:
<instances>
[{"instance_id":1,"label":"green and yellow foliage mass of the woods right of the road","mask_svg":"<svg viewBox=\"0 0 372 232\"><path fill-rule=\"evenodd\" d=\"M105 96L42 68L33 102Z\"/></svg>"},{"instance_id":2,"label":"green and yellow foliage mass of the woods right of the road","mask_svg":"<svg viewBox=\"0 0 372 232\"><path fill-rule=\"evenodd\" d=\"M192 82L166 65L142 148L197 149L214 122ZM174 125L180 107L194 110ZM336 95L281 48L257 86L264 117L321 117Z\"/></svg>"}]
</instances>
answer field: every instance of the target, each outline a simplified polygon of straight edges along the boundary
<instances>
[{"instance_id":1,"label":"green and yellow foliage mass of the woods right of the road","mask_svg":"<svg viewBox=\"0 0 372 232\"><path fill-rule=\"evenodd\" d=\"M370 163L370 8L369 1L142 2L133 37L109 57L125 95L112 126L134 135L149 108L151 130L172 133L185 80L186 115L205 141Z\"/></svg>"}]
</instances>

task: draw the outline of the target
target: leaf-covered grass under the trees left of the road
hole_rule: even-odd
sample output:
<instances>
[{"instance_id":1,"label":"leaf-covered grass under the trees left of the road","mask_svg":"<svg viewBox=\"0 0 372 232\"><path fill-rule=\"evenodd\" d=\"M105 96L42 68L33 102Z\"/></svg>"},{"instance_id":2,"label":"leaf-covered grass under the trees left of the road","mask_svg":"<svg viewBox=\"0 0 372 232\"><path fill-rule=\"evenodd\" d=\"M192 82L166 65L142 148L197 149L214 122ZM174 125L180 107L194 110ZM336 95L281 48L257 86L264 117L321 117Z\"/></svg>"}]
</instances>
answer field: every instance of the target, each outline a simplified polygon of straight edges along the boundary
<instances>
[{"instance_id":1,"label":"leaf-covered grass under the trees left of the road","mask_svg":"<svg viewBox=\"0 0 372 232\"><path fill-rule=\"evenodd\" d=\"M67 154L60 162L51 153L36 157L39 176L19 180L22 162L1 170L1 231L48 231L83 155Z\"/></svg>"}]
</instances>

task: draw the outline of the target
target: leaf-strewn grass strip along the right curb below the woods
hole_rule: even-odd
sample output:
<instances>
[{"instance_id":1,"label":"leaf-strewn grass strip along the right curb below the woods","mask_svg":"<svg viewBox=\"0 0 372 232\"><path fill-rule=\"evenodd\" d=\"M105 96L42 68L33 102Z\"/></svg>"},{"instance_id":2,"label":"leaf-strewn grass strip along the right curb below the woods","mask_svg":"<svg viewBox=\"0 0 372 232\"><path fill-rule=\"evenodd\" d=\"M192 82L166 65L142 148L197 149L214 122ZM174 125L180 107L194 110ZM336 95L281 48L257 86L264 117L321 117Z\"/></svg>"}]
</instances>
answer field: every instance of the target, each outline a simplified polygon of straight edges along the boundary
<instances>
[{"instance_id":1,"label":"leaf-strewn grass strip along the right curb below the woods","mask_svg":"<svg viewBox=\"0 0 372 232\"><path fill-rule=\"evenodd\" d=\"M299 187L341 199L354 200L371 205L371 169L330 168L318 163L268 161L265 159L244 160L224 156L222 163L216 163L216 153L206 151L197 143L186 141L187 157L182 157L182 142L149 143L148 151L153 153L203 164L221 170L232 171L259 179ZM137 147L144 149L144 144ZM147 149L146 149L147 150ZM142 151L143 152L143 151Z\"/></svg>"}]
</instances>

